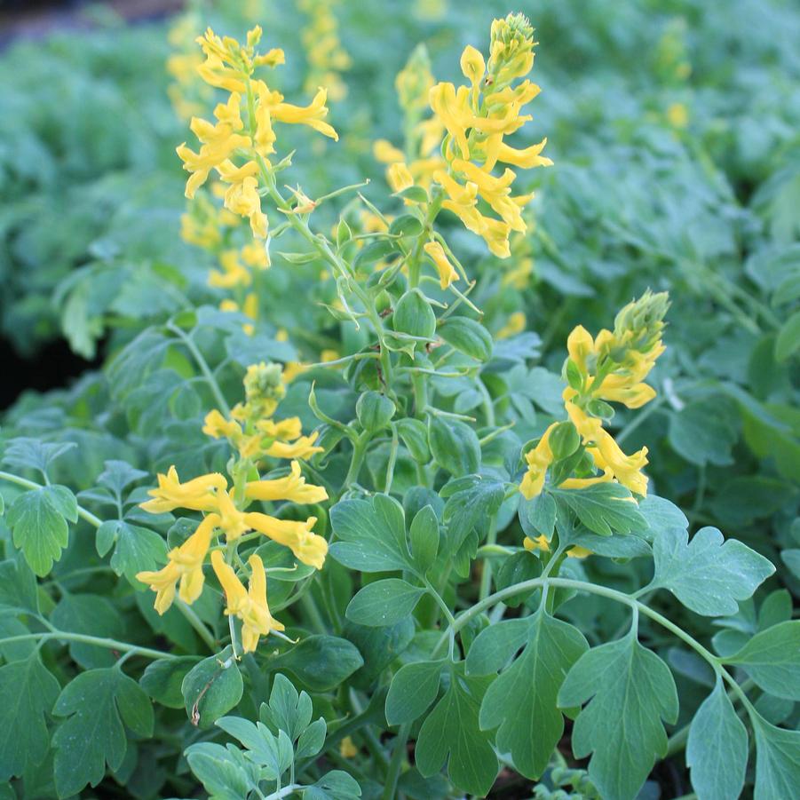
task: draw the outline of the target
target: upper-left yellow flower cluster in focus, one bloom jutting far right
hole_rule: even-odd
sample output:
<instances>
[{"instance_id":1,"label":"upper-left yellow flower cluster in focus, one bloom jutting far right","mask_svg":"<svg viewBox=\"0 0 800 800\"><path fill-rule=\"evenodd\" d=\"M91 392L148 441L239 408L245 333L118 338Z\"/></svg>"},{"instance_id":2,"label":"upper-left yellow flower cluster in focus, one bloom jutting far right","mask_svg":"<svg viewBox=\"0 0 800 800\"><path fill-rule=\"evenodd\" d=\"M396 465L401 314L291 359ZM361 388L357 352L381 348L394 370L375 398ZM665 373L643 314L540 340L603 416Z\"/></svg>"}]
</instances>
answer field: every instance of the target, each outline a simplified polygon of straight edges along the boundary
<instances>
[{"instance_id":1,"label":"upper-left yellow flower cluster in focus, one bloom jutting far right","mask_svg":"<svg viewBox=\"0 0 800 800\"><path fill-rule=\"evenodd\" d=\"M324 121L328 114L325 89L317 91L310 105L293 106L283 102L279 91L271 90L264 80L255 77L258 67L276 67L284 62L280 49L256 52L261 33L258 26L250 30L244 45L228 36L220 38L210 28L198 38L206 57L197 68L198 73L210 86L228 91L229 96L214 109L216 123L193 117L190 128L201 142L199 152L184 142L178 147L178 155L184 170L191 173L186 181L186 197L194 197L211 171L216 170L226 185L226 209L249 218L253 235L265 239L268 222L258 189L259 180L269 179L272 170L268 157L275 152L273 123L305 124L332 139L338 137Z\"/></svg>"}]
</instances>

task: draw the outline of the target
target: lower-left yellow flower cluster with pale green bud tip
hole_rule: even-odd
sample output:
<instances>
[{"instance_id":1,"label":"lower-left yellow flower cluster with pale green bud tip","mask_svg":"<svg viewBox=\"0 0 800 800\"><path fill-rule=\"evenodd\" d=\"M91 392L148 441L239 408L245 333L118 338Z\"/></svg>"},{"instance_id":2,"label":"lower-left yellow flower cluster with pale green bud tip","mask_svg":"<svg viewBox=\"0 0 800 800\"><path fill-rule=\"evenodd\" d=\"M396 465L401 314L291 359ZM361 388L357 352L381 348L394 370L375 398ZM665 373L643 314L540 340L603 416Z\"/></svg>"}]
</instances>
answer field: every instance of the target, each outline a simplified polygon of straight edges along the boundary
<instances>
[{"instance_id":1,"label":"lower-left yellow flower cluster with pale green bud tip","mask_svg":"<svg viewBox=\"0 0 800 800\"><path fill-rule=\"evenodd\" d=\"M246 418L247 423L259 431L258 423L261 421L271 423L276 428L283 425L289 437L297 440L298 420L273 423L269 419L284 392L280 368L265 364L251 367L244 384L247 400L234 409L239 416ZM263 420L259 419L261 415L264 416ZM221 418L225 421L224 417ZM231 423L238 425L233 420ZM208 432L209 427L207 417L204 430ZM266 636L273 630L283 630L283 626L273 619L267 606L265 568L257 553L252 553L248 559L249 590L244 589L232 566L234 560L241 562L237 543L242 541L242 536L250 532L264 535L288 547L299 561L317 569L321 569L328 553L328 542L313 533L316 517L279 519L262 511L249 510L251 503L257 502L282 501L308 505L327 500L328 493L324 487L305 482L297 460L291 462L287 475L253 479L255 463L264 455L294 458L296 452L308 454L320 448L312 447L313 439L310 437L303 437L303 443L295 441L287 444L260 432L253 436L261 447L250 448L254 450L252 455L242 455L240 450L239 459L234 459L228 468L233 479L231 486L220 472L210 472L181 482L178 471L172 466L166 474L158 476L158 487L150 490L152 499L142 503L143 509L155 514L184 509L199 511L203 517L194 533L184 543L170 550L166 566L158 571L137 574L139 581L147 583L155 591L155 610L164 614L172 605L176 593L186 604L192 604L200 597L205 582L203 567L210 552L211 566L226 594L226 614L237 616L242 621L242 646L245 652L256 648L260 636ZM272 444L264 447L264 440L272 440ZM215 538L217 544L213 544Z\"/></svg>"}]
</instances>

